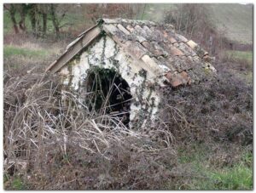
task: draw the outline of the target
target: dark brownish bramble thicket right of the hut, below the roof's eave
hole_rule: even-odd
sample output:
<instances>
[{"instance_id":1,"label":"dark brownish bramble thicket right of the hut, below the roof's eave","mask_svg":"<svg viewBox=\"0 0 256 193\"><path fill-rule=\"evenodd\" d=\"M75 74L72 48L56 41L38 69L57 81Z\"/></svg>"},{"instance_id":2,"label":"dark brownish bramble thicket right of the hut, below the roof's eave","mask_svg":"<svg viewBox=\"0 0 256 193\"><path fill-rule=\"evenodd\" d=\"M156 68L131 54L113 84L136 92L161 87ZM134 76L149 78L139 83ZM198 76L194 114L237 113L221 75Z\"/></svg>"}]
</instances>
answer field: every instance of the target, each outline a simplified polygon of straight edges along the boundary
<instances>
[{"instance_id":1,"label":"dark brownish bramble thicket right of the hut, below the roof's eave","mask_svg":"<svg viewBox=\"0 0 256 193\"><path fill-rule=\"evenodd\" d=\"M253 88L228 72L164 97L162 117L177 141L253 142Z\"/></svg>"}]
</instances>

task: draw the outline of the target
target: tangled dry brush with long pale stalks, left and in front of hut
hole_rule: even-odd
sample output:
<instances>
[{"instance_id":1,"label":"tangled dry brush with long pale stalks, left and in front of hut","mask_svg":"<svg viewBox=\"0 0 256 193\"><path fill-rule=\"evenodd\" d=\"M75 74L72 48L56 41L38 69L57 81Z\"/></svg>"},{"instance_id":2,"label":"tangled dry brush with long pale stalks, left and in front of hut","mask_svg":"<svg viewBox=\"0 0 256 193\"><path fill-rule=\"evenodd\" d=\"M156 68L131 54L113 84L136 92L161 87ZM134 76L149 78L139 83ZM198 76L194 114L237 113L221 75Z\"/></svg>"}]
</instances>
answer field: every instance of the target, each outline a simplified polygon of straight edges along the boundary
<instances>
[{"instance_id":1,"label":"tangled dry brush with long pale stalks, left and in front of hut","mask_svg":"<svg viewBox=\"0 0 256 193\"><path fill-rule=\"evenodd\" d=\"M6 79L6 176L19 174L36 190L163 187L164 168L176 162L170 132L130 130L117 116L89 111L56 82L38 73Z\"/></svg>"}]
</instances>

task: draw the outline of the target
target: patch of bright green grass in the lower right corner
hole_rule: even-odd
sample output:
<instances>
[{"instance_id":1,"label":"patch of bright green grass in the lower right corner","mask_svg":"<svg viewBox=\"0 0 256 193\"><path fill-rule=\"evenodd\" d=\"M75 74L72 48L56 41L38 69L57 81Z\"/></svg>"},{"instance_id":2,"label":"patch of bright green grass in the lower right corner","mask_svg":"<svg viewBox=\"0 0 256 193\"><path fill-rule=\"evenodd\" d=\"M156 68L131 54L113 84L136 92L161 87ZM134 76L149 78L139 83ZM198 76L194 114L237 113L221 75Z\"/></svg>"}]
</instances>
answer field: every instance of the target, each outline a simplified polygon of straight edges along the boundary
<instances>
[{"instance_id":1,"label":"patch of bright green grass in the lower right corner","mask_svg":"<svg viewBox=\"0 0 256 193\"><path fill-rule=\"evenodd\" d=\"M192 152L192 153L191 153ZM178 160L195 173L184 187L185 190L252 190L253 154L241 150L234 163L227 162L227 154L212 153L205 145L190 145L189 150L178 150ZM198 175L198 176L197 176Z\"/></svg>"}]
</instances>

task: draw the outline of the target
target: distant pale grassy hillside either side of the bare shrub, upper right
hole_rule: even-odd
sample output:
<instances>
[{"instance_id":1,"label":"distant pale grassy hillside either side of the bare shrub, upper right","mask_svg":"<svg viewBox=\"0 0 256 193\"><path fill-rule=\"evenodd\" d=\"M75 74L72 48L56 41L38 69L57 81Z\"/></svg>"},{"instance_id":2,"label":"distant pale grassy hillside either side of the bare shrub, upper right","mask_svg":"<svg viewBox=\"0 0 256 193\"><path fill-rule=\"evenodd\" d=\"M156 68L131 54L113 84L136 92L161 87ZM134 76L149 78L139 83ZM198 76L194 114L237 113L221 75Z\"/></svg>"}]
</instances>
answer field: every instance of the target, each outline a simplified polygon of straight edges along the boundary
<instances>
[{"instance_id":1,"label":"distant pale grassy hillside either side of the bare shrub, upper right","mask_svg":"<svg viewBox=\"0 0 256 193\"><path fill-rule=\"evenodd\" d=\"M143 20L161 21L165 11L175 9L177 4L148 4ZM210 18L219 30L225 30L230 40L253 43L253 7L243 4L208 4Z\"/></svg>"}]
</instances>

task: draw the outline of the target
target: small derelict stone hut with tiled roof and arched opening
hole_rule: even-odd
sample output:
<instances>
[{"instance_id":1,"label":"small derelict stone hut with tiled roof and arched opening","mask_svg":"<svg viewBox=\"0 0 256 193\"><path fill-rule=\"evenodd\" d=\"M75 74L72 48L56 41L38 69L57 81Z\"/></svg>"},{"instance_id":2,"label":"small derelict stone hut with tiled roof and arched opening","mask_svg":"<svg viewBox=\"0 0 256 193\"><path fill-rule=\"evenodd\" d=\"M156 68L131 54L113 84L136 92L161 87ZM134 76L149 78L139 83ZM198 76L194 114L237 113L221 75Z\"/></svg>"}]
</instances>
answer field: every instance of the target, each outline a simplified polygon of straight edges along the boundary
<instances>
[{"instance_id":1,"label":"small derelict stone hut with tiled roof and arched opening","mask_svg":"<svg viewBox=\"0 0 256 193\"><path fill-rule=\"evenodd\" d=\"M95 108L108 98L108 113L130 127L147 127L160 106L160 87L200 82L215 71L208 53L172 25L101 19L79 35L46 71L61 76L81 102L94 93ZM86 94L85 94L86 93Z\"/></svg>"}]
</instances>

